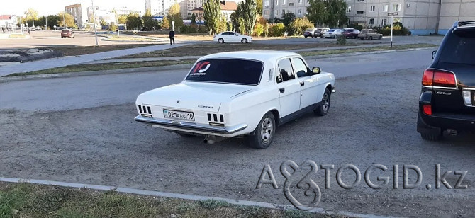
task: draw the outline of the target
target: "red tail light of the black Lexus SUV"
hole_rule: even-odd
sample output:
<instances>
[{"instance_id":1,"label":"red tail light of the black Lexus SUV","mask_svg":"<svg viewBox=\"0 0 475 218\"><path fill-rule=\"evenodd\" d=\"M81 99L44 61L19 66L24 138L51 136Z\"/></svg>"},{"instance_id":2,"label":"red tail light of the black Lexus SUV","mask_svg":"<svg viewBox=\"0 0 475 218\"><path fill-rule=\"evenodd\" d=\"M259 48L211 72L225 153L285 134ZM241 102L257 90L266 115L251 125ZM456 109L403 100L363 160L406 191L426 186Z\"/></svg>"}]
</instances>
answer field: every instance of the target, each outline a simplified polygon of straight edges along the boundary
<instances>
[{"instance_id":1,"label":"red tail light of the black Lexus SUV","mask_svg":"<svg viewBox=\"0 0 475 218\"><path fill-rule=\"evenodd\" d=\"M440 69L426 69L423 74L423 86L457 88L455 74Z\"/></svg>"}]
</instances>

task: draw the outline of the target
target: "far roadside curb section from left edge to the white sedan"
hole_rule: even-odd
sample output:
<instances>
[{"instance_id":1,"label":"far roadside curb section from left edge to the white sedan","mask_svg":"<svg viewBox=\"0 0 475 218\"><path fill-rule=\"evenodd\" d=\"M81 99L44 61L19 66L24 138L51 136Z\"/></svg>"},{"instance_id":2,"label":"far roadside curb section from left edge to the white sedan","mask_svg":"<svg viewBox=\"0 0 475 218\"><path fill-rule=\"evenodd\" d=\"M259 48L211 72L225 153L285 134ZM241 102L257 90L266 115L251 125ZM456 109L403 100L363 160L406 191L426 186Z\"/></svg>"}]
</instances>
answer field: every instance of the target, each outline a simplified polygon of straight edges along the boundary
<instances>
[{"instance_id":1,"label":"far roadside curb section from left edge to the white sedan","mask_svg":"<svg viewBox=\"0 0 475 218\"><path fill-rule=\"evenodd\" d=\"M80 71L80 72L60 73L60 74L11 76L11 77L0 77L0 83L10 82L10 81L33 80L33 79L67 78L67 77L72 77L72 76L96 76L96 75L107 75L107 74L129 74L129 73L136 73L136 72L150 72L150 71L160 71L160 70L169 70L169 69L190 69L191 67L193 67L193 64L174 64L174 65L160 66L160 67L139 67L139 68L111 69L111 70L101 70L101 71Z\"/></svg>"}]
</instances>

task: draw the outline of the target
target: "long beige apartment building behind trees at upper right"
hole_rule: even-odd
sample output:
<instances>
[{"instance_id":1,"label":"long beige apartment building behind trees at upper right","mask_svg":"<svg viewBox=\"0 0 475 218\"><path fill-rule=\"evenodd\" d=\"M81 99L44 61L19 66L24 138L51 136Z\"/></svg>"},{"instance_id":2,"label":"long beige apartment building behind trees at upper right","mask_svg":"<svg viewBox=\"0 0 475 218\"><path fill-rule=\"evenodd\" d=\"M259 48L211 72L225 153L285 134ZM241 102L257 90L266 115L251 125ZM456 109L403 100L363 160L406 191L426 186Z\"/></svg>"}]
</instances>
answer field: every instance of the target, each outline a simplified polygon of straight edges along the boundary
<instances>
[{"instance_id":1,"label":"long beige apartment building behind trees at upper right","mask_svg":"<svg viewBox=\"0 0 475 218\"><path fill-rule=\"evenodd\" d=\"M303 1L303 2L302 2ZM349 23L365 27L403 23L413 35L445 34L454 21L475 20L475 0L346 0ZM303 17L306 0L263 0L264 18L280 18L284 11Z\"/></svg>"}]
</instances>

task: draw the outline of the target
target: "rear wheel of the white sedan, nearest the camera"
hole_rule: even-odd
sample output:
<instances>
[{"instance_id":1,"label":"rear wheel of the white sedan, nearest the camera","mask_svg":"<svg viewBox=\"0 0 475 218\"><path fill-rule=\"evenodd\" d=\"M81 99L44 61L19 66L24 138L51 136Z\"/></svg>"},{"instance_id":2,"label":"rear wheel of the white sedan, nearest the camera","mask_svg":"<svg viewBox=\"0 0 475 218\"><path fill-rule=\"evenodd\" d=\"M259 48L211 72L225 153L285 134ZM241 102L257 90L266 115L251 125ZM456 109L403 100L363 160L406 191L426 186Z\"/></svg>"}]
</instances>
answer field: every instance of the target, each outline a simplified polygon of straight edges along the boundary
<instances>
[{"instance_id":1,"label":"rear wheel of the white sedan, nearest the camera","mask_svg":"<svg viewBox=\"0 0 475 218\"><path fill-rule=\"evenodd\" d=\"M274 139L276 123L270 112L262 117L254 132L249 135L249 146L255 149L267 149Z\"/></svg>"}]
</instances>

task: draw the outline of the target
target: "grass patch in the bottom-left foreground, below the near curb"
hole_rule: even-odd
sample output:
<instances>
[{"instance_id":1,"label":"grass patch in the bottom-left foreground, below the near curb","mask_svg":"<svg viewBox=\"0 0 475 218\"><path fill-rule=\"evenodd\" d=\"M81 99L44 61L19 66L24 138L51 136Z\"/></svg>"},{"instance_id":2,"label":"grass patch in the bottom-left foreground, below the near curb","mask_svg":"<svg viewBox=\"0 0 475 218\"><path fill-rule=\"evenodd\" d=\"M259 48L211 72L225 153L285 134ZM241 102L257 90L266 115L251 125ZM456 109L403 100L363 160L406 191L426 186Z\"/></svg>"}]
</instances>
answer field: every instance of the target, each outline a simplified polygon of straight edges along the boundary
<instances>
[{"instance_id":1,"label":"grass patch in the bottom-left foreground, below the near curb","mask_svg":"<svg viewBox=\"0 0 475 218\"><path fill-rule=\"evenodd\" d=\"M0 183L0 217L342 217L114 191Z\"/></svg>"}]
</instances>

